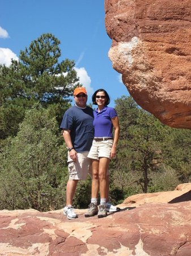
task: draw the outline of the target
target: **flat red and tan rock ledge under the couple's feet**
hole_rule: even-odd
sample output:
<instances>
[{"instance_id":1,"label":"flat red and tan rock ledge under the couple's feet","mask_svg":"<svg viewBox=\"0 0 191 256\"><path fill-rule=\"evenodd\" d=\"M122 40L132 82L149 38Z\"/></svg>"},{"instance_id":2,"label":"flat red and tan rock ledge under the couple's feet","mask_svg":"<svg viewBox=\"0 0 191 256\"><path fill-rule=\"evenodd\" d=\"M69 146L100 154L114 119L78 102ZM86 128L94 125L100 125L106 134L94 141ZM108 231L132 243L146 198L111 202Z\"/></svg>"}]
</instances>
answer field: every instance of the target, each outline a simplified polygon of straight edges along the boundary
<instances>
[{"instance_id":1,"label":"flat red and tan rock ledge under the couple's feet","mask_svg":"<svg viewBox=\"0 0 191 256\"><path fill-rule=\"evenodd\" d=\"M0 255L190 256L191 184L129 197L105 218L67 220L62 209L0 211ZM171 203L171 204L169 204Z\"/></svg>"}]
</instances>

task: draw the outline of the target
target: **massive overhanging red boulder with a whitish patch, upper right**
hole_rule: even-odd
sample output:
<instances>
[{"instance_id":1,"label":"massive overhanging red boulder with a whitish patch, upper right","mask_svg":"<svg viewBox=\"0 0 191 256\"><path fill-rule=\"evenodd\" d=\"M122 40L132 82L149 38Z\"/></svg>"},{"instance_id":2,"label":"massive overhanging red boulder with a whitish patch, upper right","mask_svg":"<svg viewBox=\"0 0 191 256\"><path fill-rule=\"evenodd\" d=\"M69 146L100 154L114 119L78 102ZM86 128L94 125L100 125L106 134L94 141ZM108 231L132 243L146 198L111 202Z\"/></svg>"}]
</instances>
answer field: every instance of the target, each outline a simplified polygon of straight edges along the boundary
<instances>
[{"instance_id":1,"label":"massive overhanging red boulder with a whitish patch, upper right","mask_svg":"<svg viewBox=\"0 0 191 256\"><path fill-rule=\"evenodd\" d=\"M134 100L191 129L190 0L105 0L109 58Z\"/></svg>"}]
</instances>

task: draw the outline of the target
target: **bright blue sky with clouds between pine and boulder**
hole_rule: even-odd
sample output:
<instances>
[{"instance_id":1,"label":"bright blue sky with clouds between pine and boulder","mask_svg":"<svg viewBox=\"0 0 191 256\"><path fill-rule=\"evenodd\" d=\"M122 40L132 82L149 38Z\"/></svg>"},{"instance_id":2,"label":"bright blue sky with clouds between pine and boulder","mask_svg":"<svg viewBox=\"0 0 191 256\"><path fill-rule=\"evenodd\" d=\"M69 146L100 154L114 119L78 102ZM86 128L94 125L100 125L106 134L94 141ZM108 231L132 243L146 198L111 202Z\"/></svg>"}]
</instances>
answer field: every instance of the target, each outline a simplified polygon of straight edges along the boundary
<instances>
[{"instance_id":1,"label":"bright blue sky with clouds between pine and boulder","mask_svg":"<svg viewBox=\"0 0 191 256\"><path fill-rule=\"evenodd\" d=\"M112 40L104 18L104 0L1 0L0 63L9 65L32 40L50 32L61 41L60 61L75 61L88 102L104 88L114 107L114 100L129 93L108 57Z\"/></svg>"}]
</instances>

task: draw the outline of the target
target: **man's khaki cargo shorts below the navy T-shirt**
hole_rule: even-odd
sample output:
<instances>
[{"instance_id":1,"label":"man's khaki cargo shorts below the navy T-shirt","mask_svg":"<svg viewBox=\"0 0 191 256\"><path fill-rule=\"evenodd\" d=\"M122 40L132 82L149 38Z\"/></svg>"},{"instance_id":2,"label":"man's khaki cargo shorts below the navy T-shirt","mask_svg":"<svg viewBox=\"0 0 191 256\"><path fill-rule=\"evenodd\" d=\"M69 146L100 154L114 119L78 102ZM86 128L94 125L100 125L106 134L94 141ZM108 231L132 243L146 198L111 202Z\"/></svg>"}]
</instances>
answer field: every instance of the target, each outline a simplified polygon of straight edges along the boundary
<instances>
[{"instance_id":1,"label":"man's khaki cargo shorts below the navy T-shirt","mask_svg":"<svg viewBox=\"0 0 191 256\"><path fill-rule=\"evenodd\" d=\"M78 152L77 162L74 162L69 153L67 164L69 168L69 180L86 180L91 167L91 159L87 157L89 151Z\"/></svg>"}]
</instances>

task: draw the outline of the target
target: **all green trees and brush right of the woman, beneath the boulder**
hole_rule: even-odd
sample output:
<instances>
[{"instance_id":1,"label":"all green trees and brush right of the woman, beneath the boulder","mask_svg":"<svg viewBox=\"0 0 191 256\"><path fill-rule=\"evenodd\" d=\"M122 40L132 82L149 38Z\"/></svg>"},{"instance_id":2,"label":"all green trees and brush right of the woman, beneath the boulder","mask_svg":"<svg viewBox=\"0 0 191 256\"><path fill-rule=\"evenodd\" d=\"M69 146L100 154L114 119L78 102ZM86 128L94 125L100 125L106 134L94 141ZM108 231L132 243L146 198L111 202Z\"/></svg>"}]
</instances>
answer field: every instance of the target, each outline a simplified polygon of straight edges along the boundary
<instances>
[{"instance_id":1,"label":"all green trees and brush right of the woman, beneath the boulder","mask_svg":"<svg viewBox=\"0 0 191 256\"><path fill-rule=\"evenodd\" d=\"M162 125L131 97L118 98L116 110L122 132L110 168L119 201L120 195L167 191L191 180L190 130Z\"/></svg>"}]
</instances>

